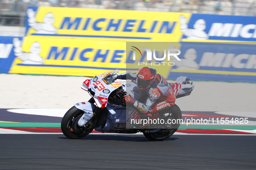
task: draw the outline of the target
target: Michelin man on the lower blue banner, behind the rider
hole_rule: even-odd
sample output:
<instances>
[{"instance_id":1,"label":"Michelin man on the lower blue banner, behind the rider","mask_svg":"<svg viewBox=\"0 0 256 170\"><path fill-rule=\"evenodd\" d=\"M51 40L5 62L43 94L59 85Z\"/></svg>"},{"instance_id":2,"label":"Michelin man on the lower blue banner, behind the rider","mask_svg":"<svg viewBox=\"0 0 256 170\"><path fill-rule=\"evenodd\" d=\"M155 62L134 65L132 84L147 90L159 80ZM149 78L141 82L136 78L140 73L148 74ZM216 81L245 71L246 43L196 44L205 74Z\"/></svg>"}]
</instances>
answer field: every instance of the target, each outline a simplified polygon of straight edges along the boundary
<instances>
[{"instance_id":1,"label":"Michelin man on the lower blue banner, behind the rider","mask_svg":"<svg viewBox=\"0 0 256 170\"><path fill-rule=\"evenodd\" d=\"M185 59L181 59L181 61L175 62L175 66L177 69L185 69L185 70L197 70L199 69L199 65L194 60L197 58L197 52L194 48L190 48L186 50L184 54Z\"/></svg>"}]
</instances>

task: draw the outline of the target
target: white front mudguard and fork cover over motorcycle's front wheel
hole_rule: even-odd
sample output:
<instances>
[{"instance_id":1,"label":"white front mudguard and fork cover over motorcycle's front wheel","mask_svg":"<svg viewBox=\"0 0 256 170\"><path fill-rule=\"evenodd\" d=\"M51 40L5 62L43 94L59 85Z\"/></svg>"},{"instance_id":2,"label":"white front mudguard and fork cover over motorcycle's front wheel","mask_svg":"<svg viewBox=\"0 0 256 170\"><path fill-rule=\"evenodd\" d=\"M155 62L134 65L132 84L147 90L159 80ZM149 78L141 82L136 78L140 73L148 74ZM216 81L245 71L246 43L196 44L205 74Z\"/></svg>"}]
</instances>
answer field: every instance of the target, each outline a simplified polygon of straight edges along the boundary
<instances>
[{"instance_id":1,"label":"white front mudguard and fork cover over motorcycle's front wheel","mask_svg":"<svg viewBox=\"0 0 256 170\"><path fill-rule=\"evenodd\" d=\"M78 120L78 126L80 127L84 126L92 118L93 111L96 109L96 106L88 101L79 102L75 104L75 107L84 111L84 114Z\"/></svg>"}]
</instances>

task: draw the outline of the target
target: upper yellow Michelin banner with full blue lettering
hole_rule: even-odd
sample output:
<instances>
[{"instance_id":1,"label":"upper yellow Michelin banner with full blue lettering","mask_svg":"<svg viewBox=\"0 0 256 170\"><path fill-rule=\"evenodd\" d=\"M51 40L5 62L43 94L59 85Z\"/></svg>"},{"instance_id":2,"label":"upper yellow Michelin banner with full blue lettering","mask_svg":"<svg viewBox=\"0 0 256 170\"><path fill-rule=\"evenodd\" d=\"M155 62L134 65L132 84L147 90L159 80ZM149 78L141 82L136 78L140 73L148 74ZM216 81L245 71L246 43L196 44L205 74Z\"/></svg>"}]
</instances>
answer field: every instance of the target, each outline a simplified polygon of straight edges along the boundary
<instances>
[{"instance_id":1,"label":"upper yellow Michelin banner with full blue lettering","mask_svg":"<svg viewBox=\"0 0 256 170\"><path fill-rule=\"evenodd\" d=\"M34 7L26 10L26 36L99 41L178 42L179 17L190 13Z\"/></svg>"}]
</instances>

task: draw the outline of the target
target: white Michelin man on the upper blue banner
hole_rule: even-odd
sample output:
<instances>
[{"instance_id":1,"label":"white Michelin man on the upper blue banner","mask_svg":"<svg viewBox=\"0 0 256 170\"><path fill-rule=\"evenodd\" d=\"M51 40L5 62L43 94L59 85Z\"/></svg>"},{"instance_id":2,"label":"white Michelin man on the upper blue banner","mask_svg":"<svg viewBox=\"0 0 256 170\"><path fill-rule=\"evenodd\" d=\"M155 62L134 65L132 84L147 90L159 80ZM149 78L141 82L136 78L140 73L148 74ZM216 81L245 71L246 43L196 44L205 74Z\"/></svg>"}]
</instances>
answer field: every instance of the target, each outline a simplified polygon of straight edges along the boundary
<instances>
[{"instance_id":1,"label":"white Michelin man on the upper blue banner","mask_svg":"<svg viewBox=\"0 0 256 170\"><path fill-rule=\"evenodd\" d=\"M194 29L188 28L188 24L186 24L186 18L185 16L179 16L179 22L180 22L180 30L183 33L183 35L187 36L187 39L191 40L207 40L208 35L204 31L206 28L204 19L198 19L194 23Z\"/></svg>"}]
</instances>

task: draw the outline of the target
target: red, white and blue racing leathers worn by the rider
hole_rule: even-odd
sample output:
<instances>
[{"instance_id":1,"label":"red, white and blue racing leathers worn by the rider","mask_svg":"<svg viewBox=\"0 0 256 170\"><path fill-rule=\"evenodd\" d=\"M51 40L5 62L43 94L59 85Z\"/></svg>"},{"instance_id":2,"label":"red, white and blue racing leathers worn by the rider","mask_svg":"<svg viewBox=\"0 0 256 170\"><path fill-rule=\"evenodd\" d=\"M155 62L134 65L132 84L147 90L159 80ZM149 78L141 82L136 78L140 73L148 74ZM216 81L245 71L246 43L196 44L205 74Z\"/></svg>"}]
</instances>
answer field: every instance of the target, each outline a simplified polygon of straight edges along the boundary
<instances>
[{"instance_id":1,"label":"red, white and blue racing leathers worn by the rider","mask_svg":"<svg viewBox=\"0 0 256 170\"><path fill-rule=\"evenodd\" d=\"M117 79L126 79L136 81L138 73L126 72L119 74ZM156 74L156 80L153 85L146 89L140 90L134 82L126 82L126 103L132 103L134 107L139 109L146 116L155 119L160 110L172 107L175 103L175 95L172 92L172 86L165 78ZM138 101L143 95L147 95L145 103Z\"/></svg>"}]
</instances>

